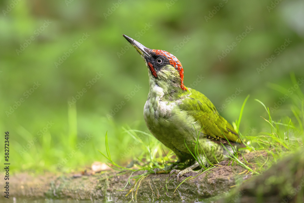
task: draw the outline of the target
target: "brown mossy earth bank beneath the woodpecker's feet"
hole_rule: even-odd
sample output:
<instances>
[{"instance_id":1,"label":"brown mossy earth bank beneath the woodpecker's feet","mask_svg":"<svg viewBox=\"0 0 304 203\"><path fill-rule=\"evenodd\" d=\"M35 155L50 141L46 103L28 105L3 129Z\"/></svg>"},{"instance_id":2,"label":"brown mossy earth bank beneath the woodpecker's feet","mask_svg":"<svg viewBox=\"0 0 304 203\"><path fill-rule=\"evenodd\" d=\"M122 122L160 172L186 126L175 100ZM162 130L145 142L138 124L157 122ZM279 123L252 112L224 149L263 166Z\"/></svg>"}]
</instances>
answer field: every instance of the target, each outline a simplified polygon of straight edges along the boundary
<instances>
[{"instance_id":1,"label":"brown mossy earth bank beneath the woodpecker's feet","mask_svg":"<svg viewBox=\"0 0 304 203\"><path fill-rule=\"evenodd\" d=\"M254 171L268 168L273 159L272 155L265 150L244 154L244 158L251 163L247 165ZM245 162L243 158L240 158L240 161ZM143 171L137 171L133 175L142 173ZM127 184L130 174L131 171L115 170L94 175L90 171L84 175L74 173L60 176L53 176L49 173L39 176L20 173L15 174L10 182L10 195L24 199L49 198L114 202L209 201L209 198L226 196L230 190L238 187L236 185L247 182L253 176L250 171L235 162L232 163L231 160L222 161L200 175L187 173L180 178L179 182L176 181L175 175L169 177L168 174L160 173L146 175L140 180L130 179L130 184ZM183 180L185 181L181 184ZM127 186L124 188L126 184ZM249 191L246 194L250 194Z\"/></svg>"}]
</instances>

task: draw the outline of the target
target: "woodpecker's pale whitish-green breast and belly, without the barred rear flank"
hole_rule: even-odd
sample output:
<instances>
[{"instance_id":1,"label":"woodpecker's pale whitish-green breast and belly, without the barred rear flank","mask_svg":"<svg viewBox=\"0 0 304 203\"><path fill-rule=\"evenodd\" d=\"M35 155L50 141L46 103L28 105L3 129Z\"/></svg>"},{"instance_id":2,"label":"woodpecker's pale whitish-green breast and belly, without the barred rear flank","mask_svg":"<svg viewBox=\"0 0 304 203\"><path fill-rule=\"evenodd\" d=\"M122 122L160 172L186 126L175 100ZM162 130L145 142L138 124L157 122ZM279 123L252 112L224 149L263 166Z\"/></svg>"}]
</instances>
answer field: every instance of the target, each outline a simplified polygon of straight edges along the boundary
<instances>
[{"instance_id":1,"label":"woodpecker's pale whitish-green breast and belly, without the barred rear flank","mask_svg":"<svg viewBox=\"0 0 304 203\"><path fill-rule=\"evenodd\" d=\"M195 122L192 116L181 111L177 102L148 98L143 111L144 119L155 138L174 151L180 158L192 158L185 146L185 141L188 147L191 145L191 141L194 143L196 135L193 124L198 129L201 126Z\"/></svg>"}]
</instances>

